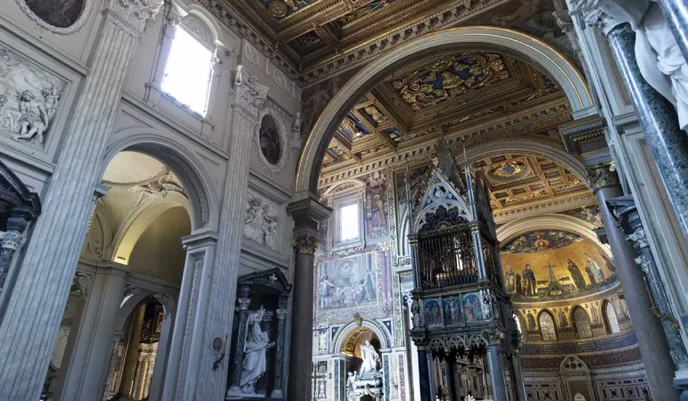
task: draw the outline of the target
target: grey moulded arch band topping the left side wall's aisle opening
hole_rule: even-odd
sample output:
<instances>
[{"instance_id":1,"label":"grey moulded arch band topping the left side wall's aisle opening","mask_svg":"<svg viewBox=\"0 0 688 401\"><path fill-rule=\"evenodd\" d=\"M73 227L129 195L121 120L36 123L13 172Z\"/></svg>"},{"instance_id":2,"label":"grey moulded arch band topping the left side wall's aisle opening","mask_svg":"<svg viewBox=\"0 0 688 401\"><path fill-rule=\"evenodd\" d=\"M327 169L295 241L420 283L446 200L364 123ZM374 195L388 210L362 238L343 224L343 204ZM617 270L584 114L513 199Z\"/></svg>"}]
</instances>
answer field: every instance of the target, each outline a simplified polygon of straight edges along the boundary
<instances>
[{"instance_id":1,"label":"grey moulded arch band topping the left side wall's aisle opening","mask_svg":"<svg viewBox=\"0 0 688 401\"><path fill-rule=\"evenodd\" d=\"M101 174L120 151L138 151L162 161L178 177L187 193L193 231L215 229L220 216L217 197L211 177L200 162L183 145L155 132L142 132L140 128L125 128L117 132L120 139L111 143L105 152Z\"/></svg>"}]
</instances>

